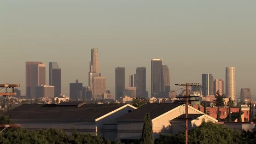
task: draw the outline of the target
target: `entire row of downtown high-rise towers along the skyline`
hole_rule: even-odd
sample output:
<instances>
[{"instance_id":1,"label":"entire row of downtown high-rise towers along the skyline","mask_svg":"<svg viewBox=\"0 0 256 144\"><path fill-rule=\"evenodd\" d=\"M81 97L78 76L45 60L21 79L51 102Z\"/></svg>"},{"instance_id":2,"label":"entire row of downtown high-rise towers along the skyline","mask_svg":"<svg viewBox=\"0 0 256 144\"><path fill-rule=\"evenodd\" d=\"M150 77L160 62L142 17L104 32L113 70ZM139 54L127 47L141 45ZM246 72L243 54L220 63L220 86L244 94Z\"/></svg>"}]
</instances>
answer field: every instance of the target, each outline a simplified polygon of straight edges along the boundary
<instances>
[{"instance_id":1,"label":"entire row of downtown high-rise towers along the skyline","mask_svg":"<svg viewBox=\"0 0 256 144\"><path fill-rule=\"evenodd\" d=\"M129 75L129 86L125 86L125 68L115 68L115 95L106 90L106 77L101 76L100 62L98 61L98 49L91 49L90 71L88 73L88 86L75 81L69 83L69 98L71 99L115 99L121 100L124 97L149 98L147 91L146 67L136 68L135 74ZM49 85L45 82L46 65L42 62L26 62L26 94L27 98L54 98L61 95L61 69L57 62L49 63ZM190 91L200 92L203 97L207 95L219 95L231 98L234 101L251 99L251 89L241 88L240 97L236 93L235 67L226 67L224 80L214 79L212 74L202 74L202 86L191 87ZM127 76L128 78L128 76ZM170 87L170 71L167 65L163 65L163 59L151 60L151 95L154 98L173 98ZM174 94L174 95L173 95Z\"/></svg>"}]
</instances>

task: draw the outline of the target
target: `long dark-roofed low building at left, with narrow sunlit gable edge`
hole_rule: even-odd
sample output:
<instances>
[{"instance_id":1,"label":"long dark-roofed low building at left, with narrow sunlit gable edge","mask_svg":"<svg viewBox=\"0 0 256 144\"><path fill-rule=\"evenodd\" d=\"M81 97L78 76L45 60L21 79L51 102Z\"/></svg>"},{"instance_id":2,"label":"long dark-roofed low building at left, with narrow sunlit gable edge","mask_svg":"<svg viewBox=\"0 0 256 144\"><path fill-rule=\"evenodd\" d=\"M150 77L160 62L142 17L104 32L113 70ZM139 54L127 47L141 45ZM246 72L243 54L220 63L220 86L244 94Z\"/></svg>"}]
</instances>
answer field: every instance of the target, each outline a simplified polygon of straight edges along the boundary
<instances>
[{"instance_id":1,"label":"long dark-roofed low building at left, with narrow sunlit gable edge","mask_svg":"<svg viewBox=\"0 0 256 144\"><path fill-rule=\"evenodd\" d=\"M117 118L135 109L129 104L23 104L11 110L10 119L25 129L57 128L67 132L75 129L114 140L117 138Z\"/></svg>"}]
</instances>

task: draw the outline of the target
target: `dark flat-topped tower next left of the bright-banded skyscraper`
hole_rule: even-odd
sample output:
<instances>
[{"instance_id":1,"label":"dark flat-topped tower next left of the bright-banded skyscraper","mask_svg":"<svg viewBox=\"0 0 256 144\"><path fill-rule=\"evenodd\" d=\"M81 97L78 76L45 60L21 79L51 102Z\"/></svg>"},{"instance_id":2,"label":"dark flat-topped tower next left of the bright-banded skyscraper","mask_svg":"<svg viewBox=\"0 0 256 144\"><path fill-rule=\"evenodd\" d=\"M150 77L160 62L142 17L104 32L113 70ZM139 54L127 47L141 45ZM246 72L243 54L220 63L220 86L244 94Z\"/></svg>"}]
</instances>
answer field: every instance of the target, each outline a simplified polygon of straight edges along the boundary
<instances>
[{"instance_id":1,"label":"dark flat-topped tower next left of the bright-banded skyscraper","mask_svg":"<svg viewBox=\"0 0 256 144\"><path fill-rule=\"evenodd\" d=\"M137 97L148 99L148 93L146 91L146 68L136 68L136 88Z\"/></svg>"}]
</instances>

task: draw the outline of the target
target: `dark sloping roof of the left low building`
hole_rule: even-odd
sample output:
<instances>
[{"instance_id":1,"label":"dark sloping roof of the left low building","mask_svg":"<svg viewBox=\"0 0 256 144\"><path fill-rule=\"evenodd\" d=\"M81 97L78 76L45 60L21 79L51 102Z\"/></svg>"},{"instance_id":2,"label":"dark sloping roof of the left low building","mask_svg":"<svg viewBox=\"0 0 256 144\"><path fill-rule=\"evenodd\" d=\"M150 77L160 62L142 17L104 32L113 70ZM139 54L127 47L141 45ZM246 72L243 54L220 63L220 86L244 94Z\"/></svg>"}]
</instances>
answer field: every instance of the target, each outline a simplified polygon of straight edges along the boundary
<instances>
[{"instance_id":1,"label":"dark sloping roof of the left low building","mask_svg":"<svg viewBox=\"0 0 256 144\"><path fill-rule=\"evenodd\" d=\"M95 119L125 104L23 104L10 111L11 119L34 120L83 120Z\"/></svg>"}]
</instances>

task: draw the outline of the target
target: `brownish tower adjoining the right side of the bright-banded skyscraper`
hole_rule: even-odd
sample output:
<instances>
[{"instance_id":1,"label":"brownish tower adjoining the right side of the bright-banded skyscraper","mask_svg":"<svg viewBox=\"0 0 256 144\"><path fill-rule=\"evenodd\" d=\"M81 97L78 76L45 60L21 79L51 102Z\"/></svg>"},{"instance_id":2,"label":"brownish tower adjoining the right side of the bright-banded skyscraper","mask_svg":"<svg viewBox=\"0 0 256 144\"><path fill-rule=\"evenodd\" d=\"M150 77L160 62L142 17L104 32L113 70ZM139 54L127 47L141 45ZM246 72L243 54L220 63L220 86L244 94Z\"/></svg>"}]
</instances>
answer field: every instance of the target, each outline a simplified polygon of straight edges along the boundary
<instances>
[{"instance_id":1,"label":"brownish tower adjoining the right side of the bright-banded skyscraper","mask_svg":"<svg viewBox=\"0 0 256 144\"><path fill-rule=\"evenodd\" d=\"M167 65L162 65L161 68L161 97L169 98L170 87L170 73Z\"/></svg>"}]
</instances>

